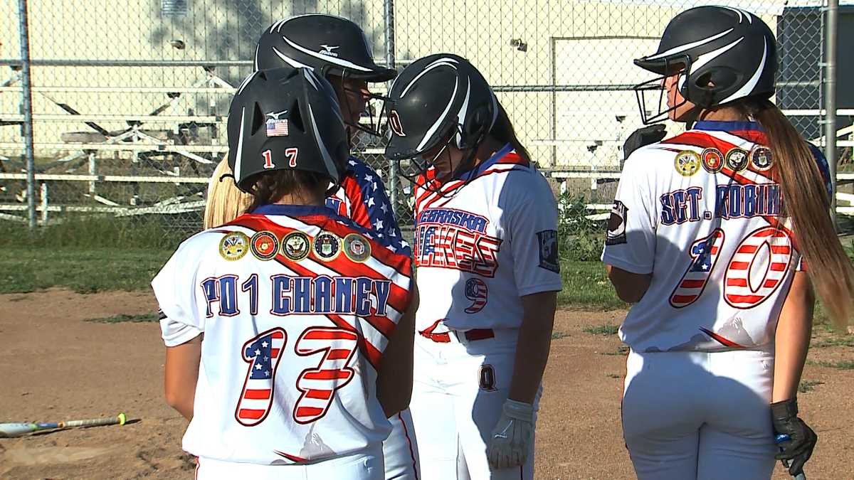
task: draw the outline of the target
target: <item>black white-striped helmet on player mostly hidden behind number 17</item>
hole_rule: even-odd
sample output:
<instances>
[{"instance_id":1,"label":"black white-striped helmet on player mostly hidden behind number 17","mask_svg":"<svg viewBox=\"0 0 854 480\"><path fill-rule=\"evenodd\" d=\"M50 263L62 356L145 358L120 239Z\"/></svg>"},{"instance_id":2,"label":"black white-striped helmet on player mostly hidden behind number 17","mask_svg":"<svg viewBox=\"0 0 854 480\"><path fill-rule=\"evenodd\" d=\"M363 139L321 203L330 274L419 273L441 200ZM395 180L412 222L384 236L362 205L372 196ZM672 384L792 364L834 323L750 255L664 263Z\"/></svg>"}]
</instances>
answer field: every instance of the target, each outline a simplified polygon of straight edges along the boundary
<instances>
[{"instance_id":1,"label":"black white-striped helmet on player mostly hidden behind number 17","mask_svg":"<svg viewBox=\"0 0 854 480\"><path fill-rule=\"evenodd\" d=\"M347 75L368 82L394 79L397 72L373 60L365 32L334 15L298 15L278 20L258 40L254 69L309 67L321 76Z\"/></svg>"}]
</instances>

